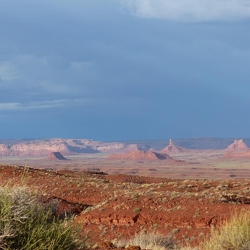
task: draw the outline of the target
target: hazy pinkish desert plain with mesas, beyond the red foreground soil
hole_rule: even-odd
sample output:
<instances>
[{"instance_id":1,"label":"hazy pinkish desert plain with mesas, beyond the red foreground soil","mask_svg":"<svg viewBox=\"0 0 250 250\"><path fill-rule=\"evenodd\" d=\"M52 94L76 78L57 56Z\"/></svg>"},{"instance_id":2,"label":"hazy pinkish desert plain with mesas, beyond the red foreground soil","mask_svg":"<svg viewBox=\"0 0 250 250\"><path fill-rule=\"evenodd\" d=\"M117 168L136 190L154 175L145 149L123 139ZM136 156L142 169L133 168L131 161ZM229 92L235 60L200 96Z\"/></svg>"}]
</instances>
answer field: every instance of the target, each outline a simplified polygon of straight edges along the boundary
<instances>
[{"instance_id":1,"label":"hazy pinkish desert plain with mesas, beyond the red foreground soil","mask_svg":"<svg viewBox=\"0 0 250 250\"><path fill-rule=\"evenodd\" d=\"M0 141L2 164L177 179L249 178L248 139ZM180 146L181 145L181 146ZM186 146L182 146L186 145Z\"/></svg>"}]
</instances>

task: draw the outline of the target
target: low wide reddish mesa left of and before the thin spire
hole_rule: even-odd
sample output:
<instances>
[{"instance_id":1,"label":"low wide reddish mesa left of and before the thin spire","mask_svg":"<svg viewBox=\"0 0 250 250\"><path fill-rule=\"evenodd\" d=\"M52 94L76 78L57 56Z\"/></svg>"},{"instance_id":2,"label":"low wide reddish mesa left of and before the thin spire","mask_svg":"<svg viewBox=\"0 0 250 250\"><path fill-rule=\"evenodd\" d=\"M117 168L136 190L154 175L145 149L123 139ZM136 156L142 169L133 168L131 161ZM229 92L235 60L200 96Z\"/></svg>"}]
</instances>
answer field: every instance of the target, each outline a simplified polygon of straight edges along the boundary
<instances>
[{"instance_id":1,"label":"low wide reddish mesa left of and before the thin spire","mask_svg":"<svg viewBox=\"0 0 250 250\"><path fill-rule=\"evenodd\" d=\"M111 154L109 160L174 160L168 154L156 153L152 151L134 150L124 154Z\"/></svg>"}]
</instances>

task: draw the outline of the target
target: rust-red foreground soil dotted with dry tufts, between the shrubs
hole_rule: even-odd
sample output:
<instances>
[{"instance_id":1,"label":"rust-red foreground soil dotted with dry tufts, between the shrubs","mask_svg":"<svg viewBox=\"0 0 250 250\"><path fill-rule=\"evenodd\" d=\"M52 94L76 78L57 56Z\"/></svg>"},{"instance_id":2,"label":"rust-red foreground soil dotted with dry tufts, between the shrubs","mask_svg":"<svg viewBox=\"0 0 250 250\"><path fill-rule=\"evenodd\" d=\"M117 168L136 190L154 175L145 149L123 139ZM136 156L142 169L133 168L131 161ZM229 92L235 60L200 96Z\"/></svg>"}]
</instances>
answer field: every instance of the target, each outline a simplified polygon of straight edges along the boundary
<instances>
[{"instance_id":1,"label":"rust-red foreground soil dotted with dry tufts, between the shrubs","mask_svg":"<svg viewBox=\"0 0 250 250\"><path fill-rule=\"evenodd\" d=\"M10 166L0 166L0 172L2 186L25 184L42 192L45 200L57 198L59 213L75 213L83 234L100 245L147 230L195 246L232 210L248 210L250 204L249 180L177 180Z\"/></svg>"}]
</instances>

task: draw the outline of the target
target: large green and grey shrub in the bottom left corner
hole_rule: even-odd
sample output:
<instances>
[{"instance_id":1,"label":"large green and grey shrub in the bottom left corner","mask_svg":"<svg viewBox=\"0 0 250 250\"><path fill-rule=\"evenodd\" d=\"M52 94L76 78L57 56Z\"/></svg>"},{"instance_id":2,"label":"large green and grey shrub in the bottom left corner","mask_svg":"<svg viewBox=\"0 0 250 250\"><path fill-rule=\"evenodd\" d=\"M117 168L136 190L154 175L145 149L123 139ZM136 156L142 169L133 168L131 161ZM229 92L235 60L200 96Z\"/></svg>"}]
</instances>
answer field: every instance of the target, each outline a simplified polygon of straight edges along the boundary
<instances>
[{"instance_id":1,"label":"large green and grey shrub in the bottom left corner","mask_svg":"<svg viewBox=\"0 0 250 250\"><path fill-rule=\"evenodd\" d=\"M87 249L72 218L55 211L24 187L0 188L0 249Z\"/></svg>"}]
</instances>

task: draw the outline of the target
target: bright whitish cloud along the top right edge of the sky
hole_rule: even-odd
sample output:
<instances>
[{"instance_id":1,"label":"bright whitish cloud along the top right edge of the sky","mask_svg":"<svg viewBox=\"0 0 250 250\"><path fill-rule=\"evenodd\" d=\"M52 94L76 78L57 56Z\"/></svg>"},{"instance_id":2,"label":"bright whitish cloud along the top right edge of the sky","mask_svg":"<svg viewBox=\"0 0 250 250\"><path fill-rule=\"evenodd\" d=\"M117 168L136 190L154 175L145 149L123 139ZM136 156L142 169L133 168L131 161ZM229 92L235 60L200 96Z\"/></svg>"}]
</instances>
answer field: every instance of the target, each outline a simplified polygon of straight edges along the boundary
<instances>
[{"instance_id":1,"label":"bright whitish cloud along the top right edge of the sky","mask_svg":"<svg viewBox=\"0 0 250 250\"><path fill-rule=\"evenodd\" d=\"M142 18L180 22L235 21L250 18L248 0L124 0Z\"/></svg>"}]
</instances>

